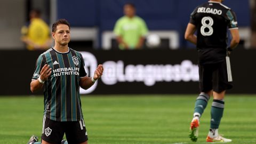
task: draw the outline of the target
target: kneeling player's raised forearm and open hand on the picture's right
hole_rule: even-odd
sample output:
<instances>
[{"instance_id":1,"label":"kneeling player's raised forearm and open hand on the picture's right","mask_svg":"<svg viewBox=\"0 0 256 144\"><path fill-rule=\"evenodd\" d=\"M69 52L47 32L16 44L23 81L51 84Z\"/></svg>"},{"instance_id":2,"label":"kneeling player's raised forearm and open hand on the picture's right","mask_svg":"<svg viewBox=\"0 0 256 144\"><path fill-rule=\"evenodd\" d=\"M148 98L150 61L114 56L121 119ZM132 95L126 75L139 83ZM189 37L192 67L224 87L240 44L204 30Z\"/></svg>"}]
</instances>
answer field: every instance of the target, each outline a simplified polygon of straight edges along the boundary
<instances>
[{"instance_id":1,"label":"kneeling player's raised forearm and open hand on the picture's right","mask_svg":"<svg viewBox=\"0 0 256 144\"><path fill-rule=\"evenodd\" d=\"M93 75L94 82L97 81L97 79L99 79L102 76L103 70L104 69L103 69L102 65L99 65L95 69L94 75ZM91 77L87 77L87 76L86 77L82 77L82 78L80 78L79 85L83 89L87 90L87 89L89 89L94 84L93 79Z\"/></svg>"}]
</instances>

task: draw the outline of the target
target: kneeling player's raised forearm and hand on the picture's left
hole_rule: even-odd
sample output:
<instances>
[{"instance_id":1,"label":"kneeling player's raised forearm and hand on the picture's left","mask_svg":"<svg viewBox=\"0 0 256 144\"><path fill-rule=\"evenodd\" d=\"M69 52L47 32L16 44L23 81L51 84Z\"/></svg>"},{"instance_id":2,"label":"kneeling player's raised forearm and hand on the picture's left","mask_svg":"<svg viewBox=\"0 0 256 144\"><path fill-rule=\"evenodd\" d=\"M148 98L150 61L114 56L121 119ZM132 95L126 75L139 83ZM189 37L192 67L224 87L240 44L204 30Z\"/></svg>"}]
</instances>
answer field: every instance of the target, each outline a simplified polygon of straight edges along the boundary
<instances>
[{"instance_id":1,"label":"kneeling player's raised forearm and hand on the picture's left","mask_svg":"<svg viewBox=\"0 0 256 144\"><path fill-rule=\"evenodd\" d=\"M41 81L46 81L48 79L48 77L51 75L52 73L52 68L50 68L49 65L45 64L43 66L43 68L40 71L40 76L38 77L38 79L40 78ZM43 88L43 83L39 82L38 79L32 79L31 83L30 83L30 90L31 92L36 92L38 90L41 90Z\"/></svg>"}]
</instances>

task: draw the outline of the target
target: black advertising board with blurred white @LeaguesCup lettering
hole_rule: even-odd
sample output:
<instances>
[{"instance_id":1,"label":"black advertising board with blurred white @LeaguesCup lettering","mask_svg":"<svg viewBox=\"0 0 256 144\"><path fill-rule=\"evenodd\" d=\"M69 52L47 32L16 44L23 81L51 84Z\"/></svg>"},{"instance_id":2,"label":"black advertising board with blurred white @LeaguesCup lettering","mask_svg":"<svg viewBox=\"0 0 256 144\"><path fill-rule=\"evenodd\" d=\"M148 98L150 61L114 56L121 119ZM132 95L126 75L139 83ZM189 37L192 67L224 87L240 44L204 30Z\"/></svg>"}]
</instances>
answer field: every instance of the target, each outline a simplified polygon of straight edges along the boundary
<instances>
[{"instance_id":1,"label":"black advertising board with blurred white @LeaguesCup lettering","mask_svg":"<svg viewBox=\"0 0 256 144\"><path fill-rule=\"evenodd\" d=\"M0 95L28 95L35 62L42 51L0 51ZM198 93L196 50L84 51L92 76L100 63L102 78L82 94ZM235 50L230 57L234 88L228 93L256 93L256 50ZM37 94L42 94L39 92Z\"/></svg>"}]
</instances>

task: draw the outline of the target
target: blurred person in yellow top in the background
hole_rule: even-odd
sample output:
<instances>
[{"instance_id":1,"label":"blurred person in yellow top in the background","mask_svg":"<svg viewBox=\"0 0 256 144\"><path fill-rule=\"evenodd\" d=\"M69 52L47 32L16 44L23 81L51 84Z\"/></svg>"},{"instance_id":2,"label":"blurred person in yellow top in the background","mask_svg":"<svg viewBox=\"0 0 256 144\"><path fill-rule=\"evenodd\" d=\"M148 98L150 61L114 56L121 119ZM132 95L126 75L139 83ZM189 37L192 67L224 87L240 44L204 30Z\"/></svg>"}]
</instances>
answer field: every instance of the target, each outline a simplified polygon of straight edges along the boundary
<instances>
[{"instance_id":1,"label":"blurred person in yellow top in the background","mask_svg":"<svg viewBox=\"0 0 256 144\"><path fill-rule=\"evenodd\" d=\"M21 41L28 50L46 50L51 47L51 34L49 26L41 19L41 11L31 10L29 22L21 28Z\"/></svg>"}]
</instances>

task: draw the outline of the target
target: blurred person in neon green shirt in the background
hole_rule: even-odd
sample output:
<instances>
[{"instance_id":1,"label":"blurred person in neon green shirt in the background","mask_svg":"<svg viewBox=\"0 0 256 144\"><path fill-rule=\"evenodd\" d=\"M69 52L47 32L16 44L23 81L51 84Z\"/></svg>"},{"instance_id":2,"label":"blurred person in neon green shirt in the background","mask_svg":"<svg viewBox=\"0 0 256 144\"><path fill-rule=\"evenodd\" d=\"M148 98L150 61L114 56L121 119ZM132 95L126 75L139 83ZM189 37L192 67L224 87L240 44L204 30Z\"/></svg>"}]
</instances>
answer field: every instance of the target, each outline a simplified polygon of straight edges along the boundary
<instances>
[{"instance_id":1,"label":"blurred person in neon green shirt in the background","mask_svg":"<svg viewBox=\"0 0 256 144\"><path fill-rule=\"evenodd\" d=\"M119 18L114 27L116 41L121 50L142 49L148 28L145 21L135 15L135 5L124 5L124 16Z\"/></svg>"}]
</instances>

